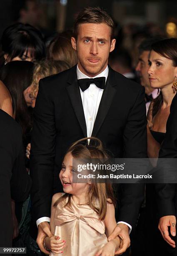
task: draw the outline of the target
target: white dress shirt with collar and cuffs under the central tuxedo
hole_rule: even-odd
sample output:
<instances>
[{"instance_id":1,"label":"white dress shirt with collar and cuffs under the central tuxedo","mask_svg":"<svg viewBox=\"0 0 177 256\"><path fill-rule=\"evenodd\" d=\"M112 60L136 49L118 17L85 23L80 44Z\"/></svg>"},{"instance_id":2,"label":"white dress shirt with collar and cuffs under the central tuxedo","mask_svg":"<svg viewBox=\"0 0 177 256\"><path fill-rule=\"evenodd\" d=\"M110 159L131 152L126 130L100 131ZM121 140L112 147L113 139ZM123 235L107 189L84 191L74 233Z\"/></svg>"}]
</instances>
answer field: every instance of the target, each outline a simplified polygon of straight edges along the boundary
<instances>
[{"instance_id":1,"label":"white dress shirt with collar and cuffs under the central tuxedo","mask_svg":"<svg viewBox=\"0 0 177 256\"><path fill-rule=\"evenodd\" d=\"M105 70L103 70L103 72L101 72L100 74L92 78L105 77L106 78L105 81L106 81L108 77L108 73L109 73L109 69L108 67L106 67ZM88 77L87 75L83 74L77 66L77 79L83 79L83 78L91 78L91 77ZM85 115L85 122L87 126L87 137L91 137L92 135L93 126L95 123L95 119L97 116L103 91L104 91L103 89L98 88L95 84L90 84L90 87L84 92L82 92L82 90L80 89L80 95L82 98L82 105L83 105L84 115ZM37 226L43 221L50 222L50 218L48 217L39 218L36 221ZM132 226L130 224L125 223L123 221L119 221L117 224L119 223L126 224L130 228L130 232L131 232Z\"/></svg>"}]
</instances>

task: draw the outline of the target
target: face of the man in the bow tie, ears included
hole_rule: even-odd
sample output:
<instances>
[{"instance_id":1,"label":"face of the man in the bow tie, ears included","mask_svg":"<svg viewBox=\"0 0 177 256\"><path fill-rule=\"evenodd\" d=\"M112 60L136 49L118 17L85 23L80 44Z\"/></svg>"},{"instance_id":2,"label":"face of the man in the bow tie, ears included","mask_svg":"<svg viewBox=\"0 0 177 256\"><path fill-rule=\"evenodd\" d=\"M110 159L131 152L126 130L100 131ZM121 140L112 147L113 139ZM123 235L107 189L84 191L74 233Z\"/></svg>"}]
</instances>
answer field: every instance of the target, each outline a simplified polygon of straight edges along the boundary
<instances>
[{"instance_id":1,"label":"face of the man in the bow tie, ears included","mask_svg":"<svg viewBox=\"0 0 177 256\"><path fill-rule=\"evenodd\" d=\"M77 39L72 37L72 47L77 51L80 71L89 77L100 74L107 66L115 39L110 39L111 28L105 23L84 23L78 27Z\"/></svg>"}]
</instances>

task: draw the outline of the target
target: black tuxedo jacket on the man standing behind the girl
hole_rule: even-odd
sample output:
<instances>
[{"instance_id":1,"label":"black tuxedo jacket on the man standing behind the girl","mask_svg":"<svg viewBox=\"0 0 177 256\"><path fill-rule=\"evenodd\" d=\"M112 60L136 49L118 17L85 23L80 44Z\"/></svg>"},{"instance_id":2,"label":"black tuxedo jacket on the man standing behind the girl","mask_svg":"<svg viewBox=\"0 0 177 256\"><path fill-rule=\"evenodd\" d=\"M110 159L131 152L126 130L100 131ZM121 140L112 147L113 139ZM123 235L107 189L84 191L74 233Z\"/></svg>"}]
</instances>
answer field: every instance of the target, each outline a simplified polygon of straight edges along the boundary
<instances>
[{"instance_id":1,"label":"black tuxedo jacket on the man standing behind the girl","mask_svg":"<svg viewBox=\"0 0 177 256\"><path fill-rule=\"evenodd\" d=\"M144 87L109 67L92 136L115 157L147 157ZM35 220L50 217L51 197L61 191L58 174L67 148L87 137L76 66L40 80L34 110L30 175ZM125 184L119 220L134 226L144 198L143 184Z\"/></svg>"}]
</instances>

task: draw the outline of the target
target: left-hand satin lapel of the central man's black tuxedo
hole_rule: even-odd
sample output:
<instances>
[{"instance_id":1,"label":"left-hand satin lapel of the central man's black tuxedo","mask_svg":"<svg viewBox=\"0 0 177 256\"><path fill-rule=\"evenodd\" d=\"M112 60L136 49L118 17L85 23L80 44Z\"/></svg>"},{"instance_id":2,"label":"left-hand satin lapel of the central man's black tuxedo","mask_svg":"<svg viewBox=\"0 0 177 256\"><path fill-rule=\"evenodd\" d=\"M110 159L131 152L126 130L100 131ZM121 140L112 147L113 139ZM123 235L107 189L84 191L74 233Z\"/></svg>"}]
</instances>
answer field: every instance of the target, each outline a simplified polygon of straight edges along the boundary
<instances>
[{"instance_id":1,"label":"left-hand satin lapel of the central man's black tuxedo","mask_svg":"<svg viewBox=\"0 0 177 256\"><path fill-rule=\"evenodd\" d=\"M68 86L66 87L66 90L70 97L72 108L75 111L75 114L80 123L80 127L82 128L84 136L87 137L87 127L86 127L86 123L85 123L85 115L84 115L84 110L83 110L83 105L82 105L82 99L80 96L80 89L79 89L78 82L77 82L76 67L77 66L75 66L71 69L71 74L67 81Z\"/></svg>"}]
</instances>

